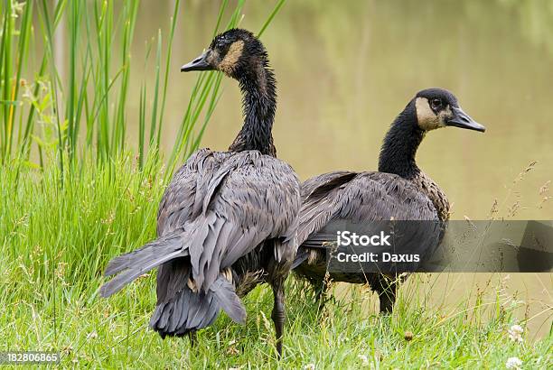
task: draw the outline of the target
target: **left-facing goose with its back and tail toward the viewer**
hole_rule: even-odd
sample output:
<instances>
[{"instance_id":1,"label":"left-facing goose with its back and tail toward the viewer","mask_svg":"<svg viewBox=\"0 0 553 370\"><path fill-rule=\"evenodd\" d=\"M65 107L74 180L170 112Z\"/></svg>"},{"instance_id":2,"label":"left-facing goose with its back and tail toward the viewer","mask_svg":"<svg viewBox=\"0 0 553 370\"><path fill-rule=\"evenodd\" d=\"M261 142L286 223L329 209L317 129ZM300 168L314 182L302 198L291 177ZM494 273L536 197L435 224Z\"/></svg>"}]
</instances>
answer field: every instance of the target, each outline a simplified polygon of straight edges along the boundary
<instances>
[{"instance_id":1,"label":"left-facing goose with its back and tail toward the viewer","mask_svg":"<svg viewBox=\"0 0 553 370\"><path fill-rule=\"evenodd\" d=\"M201 149L175 172L157 215L157 238L117 256L105 275L116 275L103 297L154 268L157 303L150 327L162 338L195 333L220 310L244 323L241 297L267 282L274 293L272 319L282 353L284 282L294 261L300 185L277 159L271 130L276 80L267 51L253 33L232 29L181 71L219 70L239 82L244 123L227 152Z\"/></svg>"}]
</instances>

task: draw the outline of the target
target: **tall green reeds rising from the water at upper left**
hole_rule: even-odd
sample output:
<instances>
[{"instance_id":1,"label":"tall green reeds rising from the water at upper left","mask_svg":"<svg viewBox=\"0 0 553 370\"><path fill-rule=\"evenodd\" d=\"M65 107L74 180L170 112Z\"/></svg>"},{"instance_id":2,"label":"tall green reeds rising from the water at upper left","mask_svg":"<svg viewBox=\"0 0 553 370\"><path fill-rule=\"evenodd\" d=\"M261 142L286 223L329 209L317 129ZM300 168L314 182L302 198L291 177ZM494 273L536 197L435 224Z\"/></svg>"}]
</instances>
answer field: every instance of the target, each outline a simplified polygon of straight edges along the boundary
<instances>
[{"instance_id":1,"label":"tall green reeds rising from the water at upper left","mask_svg":"<svg viewBox=\"0 0 553 370\"><path fill-rule=\"evenodd\" d=\"M277 1L262 31L284 2ZM226 28L238 25L244 3L236 3ZM228 7L228 0L223 0L213 34L220 32ZM140 83L140 167L148 155L158 152L161 143L180 8L180 0L175 1L166 42L159 30L144 56L145 69L153 68L155 80L153 87L144 78ZM142 42L134 37L139 1L60 0L52 6L48 0L3 0L0 9L0 163L33 166L31 159L37 158L41 168L55 161L64 171L64 166L71 168L86 156L108 163L127 150L129 81L136 79L130 50L133 42ZM65 47L56 40L60 32L66 37L64 60L56 55ZM113 44L120 45L118 50ZM197 149L219 100L220 82L220 73L198 75L169 157L170 169ZM146 102L151 104L146 106ZM55 158L45 153L56 153Z\"/></svg>"}]
</instances>

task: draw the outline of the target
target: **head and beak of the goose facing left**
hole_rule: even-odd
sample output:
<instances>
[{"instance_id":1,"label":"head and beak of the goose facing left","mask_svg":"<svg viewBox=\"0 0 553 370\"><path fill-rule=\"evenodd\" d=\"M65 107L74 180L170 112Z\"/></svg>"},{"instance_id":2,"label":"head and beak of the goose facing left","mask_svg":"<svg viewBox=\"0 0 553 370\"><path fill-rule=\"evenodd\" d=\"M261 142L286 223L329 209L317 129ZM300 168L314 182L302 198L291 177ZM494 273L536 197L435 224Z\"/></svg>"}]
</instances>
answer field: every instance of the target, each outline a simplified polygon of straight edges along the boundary
<instances>
[{"instance_id":1,"label":"head and beak of the goose facing left","mask_svg":"<svg viewBox=\"0 0 553 370\"><path fill-rule=\"evenodd\" d=\"M182 72L189 70L220 70L226 75L238 79L248 69L266 67L267 51L252 32L232 29L217 35L207 51L195 60L181 67Z\"/></svg>"}]
</instances>

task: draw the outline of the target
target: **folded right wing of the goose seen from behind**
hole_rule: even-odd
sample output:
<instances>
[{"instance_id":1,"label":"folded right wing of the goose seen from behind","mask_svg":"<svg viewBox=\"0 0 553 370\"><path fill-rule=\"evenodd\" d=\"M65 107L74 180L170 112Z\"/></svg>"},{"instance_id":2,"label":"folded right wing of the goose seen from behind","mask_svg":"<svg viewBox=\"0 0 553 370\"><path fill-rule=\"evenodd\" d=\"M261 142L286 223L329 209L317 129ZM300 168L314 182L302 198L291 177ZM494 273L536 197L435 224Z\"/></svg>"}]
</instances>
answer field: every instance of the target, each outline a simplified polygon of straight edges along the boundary
<instances>
[{"instance_id":1,"label":"folded right wing of the goose seen from behind","mask_svg":"<svg viewBox=\"0 0 553 370\"><path fill-rule=\"evenodd\" d=\"M190 256L194 279L209 288L220 269L264 240L290 234L300 200L289 166L248 152L222 163L205 189L203 224L194 236Z\"/></svg>"}]
</instances>

